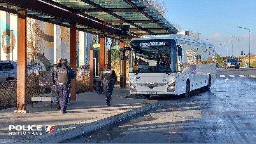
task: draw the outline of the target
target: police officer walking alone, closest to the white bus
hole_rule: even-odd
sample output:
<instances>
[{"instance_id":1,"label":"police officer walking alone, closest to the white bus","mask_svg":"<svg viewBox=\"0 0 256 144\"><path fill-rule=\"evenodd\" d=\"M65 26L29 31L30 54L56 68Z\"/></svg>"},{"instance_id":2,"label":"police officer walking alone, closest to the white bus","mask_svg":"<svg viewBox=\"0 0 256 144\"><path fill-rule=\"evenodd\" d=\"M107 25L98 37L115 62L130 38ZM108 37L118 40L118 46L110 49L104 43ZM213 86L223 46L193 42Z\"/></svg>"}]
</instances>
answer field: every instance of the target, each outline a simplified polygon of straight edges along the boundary
<instances>
[{"instance_id":1,"label":"police officer walking alone, closest to the white bus","mask_svg":"<svg viewBox=\"0 0 256 144\"><path fill-rule=\"evenodd\" d=\"M104 70L100 73L100 79L103 80L103 90L105 92L107 106L111 106L110 99L117 76L114 70L109 68L109 64L105 64Z\"/></svg>"}]
</instances>

